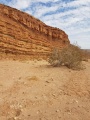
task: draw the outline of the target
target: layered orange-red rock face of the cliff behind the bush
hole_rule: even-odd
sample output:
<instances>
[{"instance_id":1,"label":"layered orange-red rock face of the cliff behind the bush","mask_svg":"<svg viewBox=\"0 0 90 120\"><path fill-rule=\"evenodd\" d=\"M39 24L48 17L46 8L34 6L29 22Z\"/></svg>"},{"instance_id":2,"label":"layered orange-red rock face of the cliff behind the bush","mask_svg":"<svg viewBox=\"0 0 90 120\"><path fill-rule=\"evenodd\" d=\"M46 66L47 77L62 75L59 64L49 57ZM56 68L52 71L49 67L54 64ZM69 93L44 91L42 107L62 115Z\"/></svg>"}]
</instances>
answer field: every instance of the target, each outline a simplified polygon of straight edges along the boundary
<instances>
[{"instance_id":1,"label":"layered orange-red rock face of the cliff behind the bush","mask_svg":"<svg viewBox=\"0 0 90 120\"><path fill-rule=\"evenodd\" d=\"M44 58L69 43L64 31L0 4L0 52Z\"/></svg>"}]
</instances>

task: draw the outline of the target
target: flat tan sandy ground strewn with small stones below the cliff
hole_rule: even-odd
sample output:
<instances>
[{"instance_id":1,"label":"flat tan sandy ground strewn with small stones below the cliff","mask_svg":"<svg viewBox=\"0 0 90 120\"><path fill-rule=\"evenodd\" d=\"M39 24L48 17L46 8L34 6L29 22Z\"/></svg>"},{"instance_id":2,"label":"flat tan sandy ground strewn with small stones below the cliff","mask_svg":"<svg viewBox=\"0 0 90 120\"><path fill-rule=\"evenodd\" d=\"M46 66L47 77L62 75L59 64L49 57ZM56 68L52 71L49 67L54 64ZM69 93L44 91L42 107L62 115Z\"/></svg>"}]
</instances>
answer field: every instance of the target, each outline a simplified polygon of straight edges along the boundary
<instances>
[{"instance_id":1,"label":"flat tan sandy ground strewn with small stones below the cliff","mask_svg":"<svg viewBox=\"0 0 90 120\"><path fill-rule=\"evenodd\" d=\"M90 60L83 64L0 60L0 120L90 120Z\"/></svg>"}]
</instances>

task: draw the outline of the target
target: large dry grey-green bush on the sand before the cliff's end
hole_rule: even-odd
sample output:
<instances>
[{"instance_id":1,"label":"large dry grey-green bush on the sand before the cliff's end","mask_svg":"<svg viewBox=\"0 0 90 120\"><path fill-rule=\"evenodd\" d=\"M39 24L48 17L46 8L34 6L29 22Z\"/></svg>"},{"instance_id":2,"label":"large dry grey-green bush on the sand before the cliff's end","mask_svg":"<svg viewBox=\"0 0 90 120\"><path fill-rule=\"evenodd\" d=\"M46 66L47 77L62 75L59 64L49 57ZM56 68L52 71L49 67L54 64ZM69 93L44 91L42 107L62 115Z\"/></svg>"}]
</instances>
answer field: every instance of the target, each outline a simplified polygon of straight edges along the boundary
<instances>
[{"instance_id":1,"label":"large dry grey-green bush on the sand before the cliff's end","mask_svg":"<svg viewBox=\"0 0 90 120\"><path fill-rule=\"evenodd\" d=\"M52 66L65 65L71 69L81 69L82 68L82 51L76 45L69 45L61 51L59 49L54 49L49 58L49 63Z\"/></svg>"}]
</instances>

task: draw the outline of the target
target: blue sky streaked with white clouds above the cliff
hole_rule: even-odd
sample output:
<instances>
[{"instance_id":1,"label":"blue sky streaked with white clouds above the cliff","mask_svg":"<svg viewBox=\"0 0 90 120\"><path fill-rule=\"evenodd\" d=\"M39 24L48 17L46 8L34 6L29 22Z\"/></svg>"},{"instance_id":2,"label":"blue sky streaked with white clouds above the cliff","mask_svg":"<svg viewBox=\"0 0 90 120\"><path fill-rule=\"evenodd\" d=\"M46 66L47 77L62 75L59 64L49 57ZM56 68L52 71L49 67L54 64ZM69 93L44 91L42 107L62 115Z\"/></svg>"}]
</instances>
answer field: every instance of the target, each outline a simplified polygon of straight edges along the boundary
<instances>
[{"instance_id":1,"label":"blue sky streaked with white clouds above the cliff","mask_svg":"<svg viewBox=\"0 0 90 120\"><path fill-rule=\"evenodd\" d=\"M73 44L90 49L90 0L0 0L64 30Z\"/></svg>"}]
</instances>

